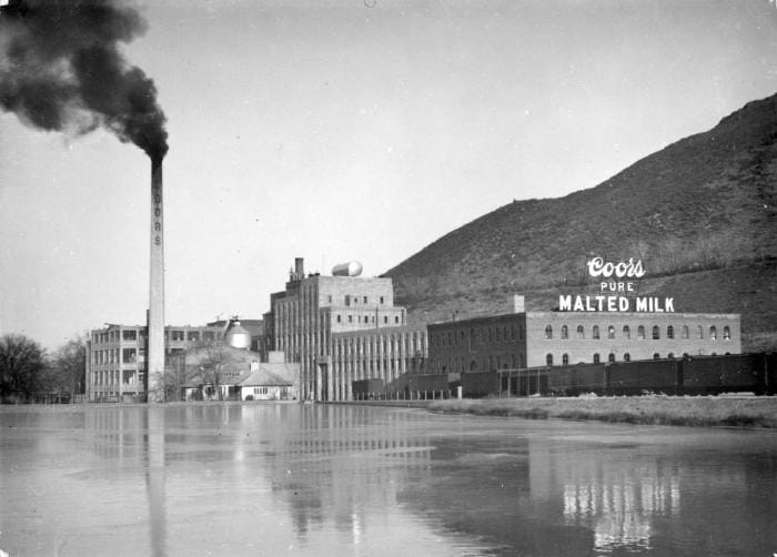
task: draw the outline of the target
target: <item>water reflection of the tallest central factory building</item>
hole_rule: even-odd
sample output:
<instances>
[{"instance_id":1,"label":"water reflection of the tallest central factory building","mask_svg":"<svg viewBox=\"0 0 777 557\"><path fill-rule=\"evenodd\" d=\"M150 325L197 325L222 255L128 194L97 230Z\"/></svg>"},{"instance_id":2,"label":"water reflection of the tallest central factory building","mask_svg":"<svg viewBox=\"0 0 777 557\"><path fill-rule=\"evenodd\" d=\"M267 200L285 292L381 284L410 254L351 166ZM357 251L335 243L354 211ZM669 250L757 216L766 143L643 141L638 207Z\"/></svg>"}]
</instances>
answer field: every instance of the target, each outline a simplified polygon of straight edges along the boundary
<instances>
[{"instance_id":1,"label":"water reflection of the tallest central factory building","mask_svg":"<svg viewBox=\"0 0 777 557\"><path fill-rule=\"evenodd\" d=\"M386 412L373 421L374 409L360 407L245 411L265 424L270 416L264 414L281 413L283 428L264 429L272 458L262 469L273 494L290 506L301 539L332 521L357 543L370 535L371 523L389 519L408 478L431 474L432 447L413 435L418 417L412 413Z\"/></svg>"}]
</instances>

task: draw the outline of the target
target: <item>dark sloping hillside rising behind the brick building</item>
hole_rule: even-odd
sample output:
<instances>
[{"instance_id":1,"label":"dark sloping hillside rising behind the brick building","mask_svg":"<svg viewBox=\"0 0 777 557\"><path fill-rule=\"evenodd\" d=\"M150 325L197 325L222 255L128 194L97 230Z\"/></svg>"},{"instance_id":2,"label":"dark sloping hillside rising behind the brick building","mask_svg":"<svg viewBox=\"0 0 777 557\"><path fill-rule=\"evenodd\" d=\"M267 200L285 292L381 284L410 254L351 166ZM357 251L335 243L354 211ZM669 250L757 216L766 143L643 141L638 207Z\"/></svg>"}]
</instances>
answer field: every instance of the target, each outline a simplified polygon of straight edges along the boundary
<instances>
[{"instance_id":1,"label":"dark sloping hillside rising behind the brick building","mask_svg":"<svg viewBox=\"0 0 777 557\"><path fill-rule=\"evenodd\" d=\"M596 188L515 201L392 269L412 321L529 310L584 287L584 263L640 257L640 290L677 311L741 312L777 331L777 95L636 162Z\"/></svg>"}]
</instances>

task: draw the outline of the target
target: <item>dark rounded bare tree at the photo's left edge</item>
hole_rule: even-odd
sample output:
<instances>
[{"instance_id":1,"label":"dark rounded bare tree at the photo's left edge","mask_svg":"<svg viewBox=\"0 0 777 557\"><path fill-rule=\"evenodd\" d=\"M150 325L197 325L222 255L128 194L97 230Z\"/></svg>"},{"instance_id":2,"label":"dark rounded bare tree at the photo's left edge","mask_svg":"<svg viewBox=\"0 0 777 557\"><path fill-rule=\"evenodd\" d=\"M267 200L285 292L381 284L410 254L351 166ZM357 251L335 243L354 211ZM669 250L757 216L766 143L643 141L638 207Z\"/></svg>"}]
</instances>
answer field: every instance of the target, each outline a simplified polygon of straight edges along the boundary
<instances>
[{"instance_id":1,"label":"dark rounded bare tree at the photo's left edge","mask_svg":"<svg viewBox=\"0 0 777 557\"><path fill-rule=\"evenodd\" d=\"M43 387L46 351L33 340L20 334L0 337L0 398L29 399Z\"/></svg>"}]
</instances>

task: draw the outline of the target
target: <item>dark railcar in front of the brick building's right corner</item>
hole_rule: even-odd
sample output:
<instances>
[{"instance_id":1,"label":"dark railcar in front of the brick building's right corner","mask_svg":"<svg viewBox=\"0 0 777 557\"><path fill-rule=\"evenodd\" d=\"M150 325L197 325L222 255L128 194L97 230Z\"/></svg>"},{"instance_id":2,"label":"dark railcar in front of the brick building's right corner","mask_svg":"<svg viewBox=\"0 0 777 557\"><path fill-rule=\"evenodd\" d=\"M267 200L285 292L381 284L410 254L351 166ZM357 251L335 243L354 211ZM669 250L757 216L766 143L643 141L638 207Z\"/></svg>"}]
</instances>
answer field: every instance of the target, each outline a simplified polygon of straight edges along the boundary
<instances>
[{"instance_id":1,"label":"dark railcar in front of the brick building's right corner","mask_svg":"<svg viewBox=\"0 0 777 557\"><path fill-rule=\"evenodd\" d=\"M764 354L686 356L683 359L683 391L687 395L766 391Z\"/></svg>"}]
</instances>

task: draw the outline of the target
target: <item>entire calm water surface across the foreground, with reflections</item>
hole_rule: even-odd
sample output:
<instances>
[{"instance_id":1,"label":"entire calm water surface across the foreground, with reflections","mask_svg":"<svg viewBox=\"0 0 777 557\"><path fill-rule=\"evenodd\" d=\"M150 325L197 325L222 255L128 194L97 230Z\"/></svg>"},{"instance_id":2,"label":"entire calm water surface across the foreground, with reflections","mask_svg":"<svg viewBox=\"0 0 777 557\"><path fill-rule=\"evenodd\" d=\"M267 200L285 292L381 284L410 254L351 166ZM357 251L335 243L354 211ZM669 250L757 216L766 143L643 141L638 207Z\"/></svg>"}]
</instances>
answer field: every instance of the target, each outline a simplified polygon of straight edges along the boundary
<instances>
[{"instance_id":1,"label":"entire calm water surface across the foreground, with reflections","mask_svg":"<svg viewBox=\"0 0 777 557\"><path fill-rule=\"evenodd\" d=\"M14 555L777 554L777 434L297 404L0 408Z\"/></svg>"}]
</instances>

